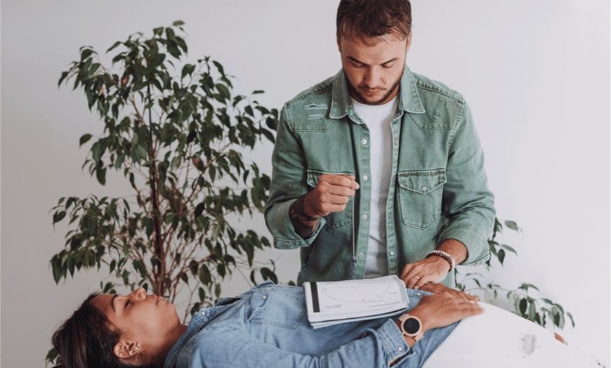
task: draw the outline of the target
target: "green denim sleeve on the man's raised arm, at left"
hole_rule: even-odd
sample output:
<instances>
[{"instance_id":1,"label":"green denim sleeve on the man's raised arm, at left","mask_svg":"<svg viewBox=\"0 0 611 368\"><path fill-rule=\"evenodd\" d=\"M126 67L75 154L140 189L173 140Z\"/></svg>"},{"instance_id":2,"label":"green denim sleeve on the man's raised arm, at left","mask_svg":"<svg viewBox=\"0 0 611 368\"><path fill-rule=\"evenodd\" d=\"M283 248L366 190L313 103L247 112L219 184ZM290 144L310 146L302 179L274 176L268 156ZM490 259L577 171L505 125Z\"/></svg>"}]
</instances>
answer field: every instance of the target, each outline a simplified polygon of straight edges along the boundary
<instances>
[{"instance_id":1,"label":"green denim sleeve on the man's raised arm, at left","mask_svg":"<svg viewBox=\"0 0 611 368\"><path fill-rule=\"evenodd\" d=\"M295 200L308 192L306 181L307 163L301 143L291 131L287 119L287 108L282 110L280 126L272 153L272 183L270 197L265 206L265 223L270 230L274 247L296 249L308 247L324 226L320 218L317 228L308 239L299 236L289 218L289 211Z\"/></svg>"}]
</instances>

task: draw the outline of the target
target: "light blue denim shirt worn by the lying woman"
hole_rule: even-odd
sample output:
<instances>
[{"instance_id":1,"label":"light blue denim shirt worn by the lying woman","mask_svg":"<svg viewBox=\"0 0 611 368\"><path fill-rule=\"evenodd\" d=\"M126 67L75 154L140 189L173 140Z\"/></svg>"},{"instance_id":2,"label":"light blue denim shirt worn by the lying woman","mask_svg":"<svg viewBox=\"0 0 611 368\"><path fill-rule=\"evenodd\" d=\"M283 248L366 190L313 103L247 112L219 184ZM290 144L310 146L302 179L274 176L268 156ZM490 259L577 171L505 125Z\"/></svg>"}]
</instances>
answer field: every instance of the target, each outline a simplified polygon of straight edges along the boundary
<instances>
[{"instance_id":1,"label":"light blue denim shirt worn by the lying woman","mask_svg":"<svg viewBox=\"0 0 611 368\"><path fill-rule=\"evenodd\" d=\"M423 294L407 289L410 307ZM389 318L313 329L303 287L268 281L193 315L164 368L388 367L395 359L393 367L415 368L455 327L426 331L411 349Z\"/></svg>"}]
</instances>

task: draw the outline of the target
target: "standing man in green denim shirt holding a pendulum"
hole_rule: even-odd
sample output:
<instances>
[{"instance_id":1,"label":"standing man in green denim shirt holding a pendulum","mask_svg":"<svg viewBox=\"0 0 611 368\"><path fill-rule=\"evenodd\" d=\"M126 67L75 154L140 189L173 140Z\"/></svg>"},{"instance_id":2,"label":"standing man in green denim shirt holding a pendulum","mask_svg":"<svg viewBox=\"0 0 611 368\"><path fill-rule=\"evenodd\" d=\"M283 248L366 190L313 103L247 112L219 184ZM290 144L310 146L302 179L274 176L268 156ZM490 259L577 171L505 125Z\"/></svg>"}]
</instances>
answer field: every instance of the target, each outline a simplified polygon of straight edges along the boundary
<instances>
[{"instance_id":1,"label":"standing man in green denim shirt holding a pendulum","mask_svg":"<svg viewBox=\"0 0 611 368\"><path fill-rule=\"evenodd\" d=\"M284 105L265 220L298 284L396 274L455 285L489 257L494 196L464 98L412 73L407 0L341 0L342 70Z\"/></svg>"}]
</instances>

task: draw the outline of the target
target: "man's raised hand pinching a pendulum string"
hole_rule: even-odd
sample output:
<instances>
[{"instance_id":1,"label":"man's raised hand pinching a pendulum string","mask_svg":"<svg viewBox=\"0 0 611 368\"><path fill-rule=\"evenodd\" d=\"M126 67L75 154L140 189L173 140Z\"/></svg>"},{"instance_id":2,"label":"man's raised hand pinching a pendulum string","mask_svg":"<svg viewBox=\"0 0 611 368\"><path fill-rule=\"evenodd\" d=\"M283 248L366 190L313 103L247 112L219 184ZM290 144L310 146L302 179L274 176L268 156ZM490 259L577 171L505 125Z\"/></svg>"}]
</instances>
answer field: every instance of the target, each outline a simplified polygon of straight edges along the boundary
<instances>
[{"instance_id":1,"label":"man's raised hand pinching a pendulum string","mask_svg":"<svg viewBox=\"0 0 611 368\"><path fill-rule=\"evenodd\" d=\"M306 194L303 210L310 217L341 212L358 188L354 176L324 173L318 179L316 187Z\"/></svg>"}]
</instances>

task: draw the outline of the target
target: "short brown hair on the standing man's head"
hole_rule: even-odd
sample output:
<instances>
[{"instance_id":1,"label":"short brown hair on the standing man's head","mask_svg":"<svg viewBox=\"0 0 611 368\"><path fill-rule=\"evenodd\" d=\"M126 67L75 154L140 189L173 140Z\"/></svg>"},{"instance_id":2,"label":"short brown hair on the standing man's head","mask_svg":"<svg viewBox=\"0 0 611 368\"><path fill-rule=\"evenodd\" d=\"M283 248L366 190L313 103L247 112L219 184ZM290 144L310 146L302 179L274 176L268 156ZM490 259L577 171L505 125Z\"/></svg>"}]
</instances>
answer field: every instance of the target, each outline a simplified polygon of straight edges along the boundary
<instances>
[{"instance_id":1,"label":"short brown hair on the standing man's head","mask_svg":"<svg viewBox=\"0 0 611 368\"><path fill-rule=\"evenodd\" d=\"M412 31L409 0L341 0L337 8L339 37L367 41L384 34L403 39Z\"/></svg>"}]
</instances>

